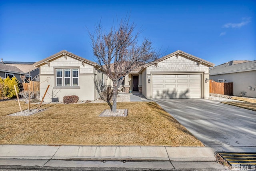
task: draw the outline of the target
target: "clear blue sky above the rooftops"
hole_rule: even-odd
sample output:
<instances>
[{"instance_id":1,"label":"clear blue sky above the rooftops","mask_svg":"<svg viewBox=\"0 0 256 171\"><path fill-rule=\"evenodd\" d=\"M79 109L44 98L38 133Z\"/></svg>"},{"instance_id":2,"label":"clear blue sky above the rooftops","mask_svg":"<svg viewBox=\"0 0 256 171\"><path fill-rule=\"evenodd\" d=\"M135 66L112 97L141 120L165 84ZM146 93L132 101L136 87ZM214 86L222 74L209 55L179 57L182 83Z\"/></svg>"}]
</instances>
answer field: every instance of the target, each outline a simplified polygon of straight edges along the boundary
<instances>
[{"instance_id":1,"label":"clear blue sky above the rooftops","mask_svg":"<svg viewBox=\"0 0 256 171\"><path fill-rule=\"evenodd\" d=\"M163 55L256 60L256 0L1 0L0 58L37 62L67 50L95 61L88 31L126 16Z\"/></svg>"}]
</instances>

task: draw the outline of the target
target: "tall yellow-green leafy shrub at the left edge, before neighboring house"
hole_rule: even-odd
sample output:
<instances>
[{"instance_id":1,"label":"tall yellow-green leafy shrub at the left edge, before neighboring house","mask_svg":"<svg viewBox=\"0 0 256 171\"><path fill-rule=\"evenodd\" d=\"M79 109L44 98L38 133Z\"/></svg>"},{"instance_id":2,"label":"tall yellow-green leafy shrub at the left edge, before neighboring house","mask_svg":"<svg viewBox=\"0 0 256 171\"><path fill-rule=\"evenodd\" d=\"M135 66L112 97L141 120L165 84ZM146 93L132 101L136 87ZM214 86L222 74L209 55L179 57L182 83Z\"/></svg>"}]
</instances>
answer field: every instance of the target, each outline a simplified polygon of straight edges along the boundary
<instances>
[{"instance_id":1,"label":"tall yellow-green leafy shrub at the left edge, before neighboring house","mask_svg":"<svg viewBox=\"0 0 256 171\"><path fill-rule=\"evenodd\" d=\"M16 85L17 92L19 93L19 84L18 80L15 77L13 77L12 79L7 77L4 80L0 78L0 97L12 98L13 96L16 96L14 85Z\"/></svg>"}]
</instances>

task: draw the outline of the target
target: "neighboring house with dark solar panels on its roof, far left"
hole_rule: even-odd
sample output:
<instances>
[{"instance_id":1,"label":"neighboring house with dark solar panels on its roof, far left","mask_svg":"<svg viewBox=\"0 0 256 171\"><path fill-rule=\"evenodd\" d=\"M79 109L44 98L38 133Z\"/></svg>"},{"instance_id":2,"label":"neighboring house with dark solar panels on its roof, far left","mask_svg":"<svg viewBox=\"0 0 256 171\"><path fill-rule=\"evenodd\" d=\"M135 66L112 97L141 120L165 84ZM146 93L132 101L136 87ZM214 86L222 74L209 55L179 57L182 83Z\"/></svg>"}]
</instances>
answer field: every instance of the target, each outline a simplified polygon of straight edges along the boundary
<instances>
[{"instance_id":1,"label":"neighboring house with dark solar panels on its roof, far left","mask_svg":"<svg viewBox=\"0 0 256 171\"><path fill-rule=\"evenodd\" d=\"M0 61L0 77L9 78L16 77L20 83L35 80L35 77L39 74L39 69L33 66L34 62L9 62ZM21 77L24 77L21 78Z\"/></svg>"}]
</instances>

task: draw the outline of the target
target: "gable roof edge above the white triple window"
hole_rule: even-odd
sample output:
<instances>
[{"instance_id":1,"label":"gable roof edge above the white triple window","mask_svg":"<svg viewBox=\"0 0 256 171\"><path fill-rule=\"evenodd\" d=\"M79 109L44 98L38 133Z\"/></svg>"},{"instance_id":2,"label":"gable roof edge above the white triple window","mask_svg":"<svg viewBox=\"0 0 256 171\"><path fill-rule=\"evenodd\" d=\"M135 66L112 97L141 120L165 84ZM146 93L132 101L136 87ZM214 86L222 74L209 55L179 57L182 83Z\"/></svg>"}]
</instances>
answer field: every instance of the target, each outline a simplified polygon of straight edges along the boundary
<instances>
[{"instance_id":1,"label":"gable roof edge above the white triple window","mask_svg":"<svg viewBox=\"0 0 256 171\"><path fill-rule=\"evenodd\" d=\"M66 50L62 50L62 51L60 51L60 52L58 52L58 53L56 53L56 54L54 54L52 56L49 56L48 58L45 58L43 60L40 60L40 61L36 62L34 64L34 67L40 67L41 65L44 65L47 62L50 62L50 61L54 60L55 58L59 58L61 56L65 56L65 55L71 56L72 58L75 58L76 60L79 60L81 62L85 62L85 63L90 64L92 66L97 66L98 68L100 68L100 66L96 62L92 62L90 60L87 60L87 59L82 58L80 56L77 56L75 54L72 54L71 52L68 52Z\"/></svg>"}]
</instances>

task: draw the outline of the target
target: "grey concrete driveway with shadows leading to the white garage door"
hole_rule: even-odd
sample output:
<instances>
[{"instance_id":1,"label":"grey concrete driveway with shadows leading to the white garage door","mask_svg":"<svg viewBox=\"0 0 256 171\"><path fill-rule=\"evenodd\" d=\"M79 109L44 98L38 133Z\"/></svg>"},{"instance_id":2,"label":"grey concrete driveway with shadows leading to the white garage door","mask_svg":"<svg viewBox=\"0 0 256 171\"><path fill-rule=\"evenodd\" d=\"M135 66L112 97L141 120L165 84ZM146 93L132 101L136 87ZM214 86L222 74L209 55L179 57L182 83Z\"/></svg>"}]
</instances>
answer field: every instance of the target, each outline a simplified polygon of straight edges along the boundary
<instances>
[{"instance_id":1,"label":"grey concrete driveway with shadows leading to the white garage door","mask_svg":"<svg viewBox=\"0 0 256 171\"><path fill-rule=\"evenodd\" d=\"M210 99L155 99L206 147L256 152L256 112Z\"/></svg>"}]
</instances>

